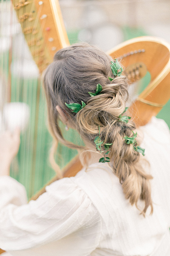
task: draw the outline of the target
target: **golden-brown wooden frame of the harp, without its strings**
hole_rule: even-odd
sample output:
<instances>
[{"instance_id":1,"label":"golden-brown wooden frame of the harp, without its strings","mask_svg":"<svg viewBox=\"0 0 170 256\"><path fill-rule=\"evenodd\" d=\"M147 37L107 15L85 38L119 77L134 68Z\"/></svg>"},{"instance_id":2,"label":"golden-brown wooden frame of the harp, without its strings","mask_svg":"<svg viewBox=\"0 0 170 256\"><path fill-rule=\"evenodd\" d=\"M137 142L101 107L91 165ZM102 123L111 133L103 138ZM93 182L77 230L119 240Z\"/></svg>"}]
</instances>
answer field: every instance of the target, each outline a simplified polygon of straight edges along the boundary
<instances>
[{"instance_id":1,"label":"golden-brown wooden frame of the harp, without its strings","mask_svg":"<svg viewBox=\"0 0 170 256\"><path fill-rule=\"evenodd\" d=\"M13 0L13 6L17 12L30 52L41 74L46 66L52 62L54 53L58 49L69 45L58 1L32 2L31 0ZM9 52L11 52L11 49ZM152 116L155 116L162 109L170 98L170 45L161 39L139 37L121 43L110 50L108 54L112 58L121 58L124 74L128 75L132 82L140 80L146 71L150 73L151 81L149 85L129 108L136 124L138 126L145 125ZM8 57L9 62L12 62L10 54ZM9 70L10 68L8 68ZM7 101L11 99L10 86L11 84L8 82ZM35 121L38 118L39 103L40 89L37 89L34 110ZM37 134L38 125L35 125L33 133L35 140L38 137ZM36 143L35 147L37 147ZM33 150L35 152L35 149ZM81 168L82 165L77 156L63 169L63 176L74 176ZM57 179L58 177L56 176L49 183ZM45 192L45 188L39 191L32 199L38 198L43 192ZM2 252L0 251L0 253Z\"/></svg>"}]
</instances>

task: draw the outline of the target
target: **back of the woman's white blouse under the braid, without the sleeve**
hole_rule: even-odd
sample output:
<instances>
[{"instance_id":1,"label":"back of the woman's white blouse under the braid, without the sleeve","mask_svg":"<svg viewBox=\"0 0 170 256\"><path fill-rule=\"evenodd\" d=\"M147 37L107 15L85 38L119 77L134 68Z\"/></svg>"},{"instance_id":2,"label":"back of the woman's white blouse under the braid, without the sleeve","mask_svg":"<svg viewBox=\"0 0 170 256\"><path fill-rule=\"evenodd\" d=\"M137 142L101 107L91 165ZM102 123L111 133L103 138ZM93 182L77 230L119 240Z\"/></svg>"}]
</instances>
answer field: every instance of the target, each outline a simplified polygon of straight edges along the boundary
<instances>
[{"instance_id":1,"label":"back of the woman's white blouse under the braid, without the sleeve","mask_svg":"<svg viewBox=\"0 0 170 256\"><path fill-rule=\"evenodd\" d=\"M141 130L144 134L142 146L146 149L146 158L150 163L150 168L146 168L147 171L150 169L153 176L152 215L150 208L146 217L143 217L135 205L131 206L125 199L119 179L108 164L91 165L91 171L82 171L76 179L72 178L83 188L101 214L101 241L99 249L95 250L96 254L93 252L92 255L169 255L170 133L164 121L156 118L141 127ZM140 201L138 205L143 207L143 202ZM158 254L159 246L161 254Z\"/></svg>"}]
</instances>

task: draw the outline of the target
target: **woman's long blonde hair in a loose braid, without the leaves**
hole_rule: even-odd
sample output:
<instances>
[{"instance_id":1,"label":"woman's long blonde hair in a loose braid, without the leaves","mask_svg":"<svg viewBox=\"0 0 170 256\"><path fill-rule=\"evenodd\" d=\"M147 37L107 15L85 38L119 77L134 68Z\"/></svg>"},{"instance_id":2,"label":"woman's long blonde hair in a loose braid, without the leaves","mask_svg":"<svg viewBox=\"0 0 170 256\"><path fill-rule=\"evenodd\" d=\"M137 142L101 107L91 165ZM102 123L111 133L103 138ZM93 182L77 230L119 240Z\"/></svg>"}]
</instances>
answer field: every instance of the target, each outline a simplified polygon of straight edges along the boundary
<instances>
[{"instance_id":1,"label":"woman's long blonde hair in a loose braid, without the leaves","mask_svg":"<svg viewBox=\"0 0 170 256\"><path fill-rule=\"evenodd\" d=\"M131 120L127 124L118 121L128 99L128 82L125 76L114 78L109 66L111 60L102 50L87 43L74 44L55 54L44 76L49 128L56 145L60 141L70 148L82 149L63 138L57 105L67 113L81 137L91 144L94 144L100 126L101 140L113 143L109 157L113 160L113 172L120 180L125 198L137 208L138 200L144 201L141 213L145 216L149 206L153 212L149 181L152 176L143 170L140 154L123 138L133 136L135 124ZM114 80L111 82L108 77ZM91 97L88 92L95 92L98 83L102 85L101 95ZM65 105L65 102L81 104L81 101L86 106L78 113Z\"/></svg>"}]
</instances>

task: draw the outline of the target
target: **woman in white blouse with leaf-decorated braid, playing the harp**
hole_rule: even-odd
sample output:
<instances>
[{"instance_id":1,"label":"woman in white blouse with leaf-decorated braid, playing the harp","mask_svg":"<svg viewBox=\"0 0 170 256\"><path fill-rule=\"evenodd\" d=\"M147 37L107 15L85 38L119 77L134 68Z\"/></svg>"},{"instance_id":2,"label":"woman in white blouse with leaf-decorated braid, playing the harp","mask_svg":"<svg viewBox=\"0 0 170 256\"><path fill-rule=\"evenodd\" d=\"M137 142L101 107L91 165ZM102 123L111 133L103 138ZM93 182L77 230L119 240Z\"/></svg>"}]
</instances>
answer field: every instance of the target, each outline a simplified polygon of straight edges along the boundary
<instances>
[{"instance_id":1,"label":"woman in white blouse with leaf-decorated braid, playing the harp","mask_svg":"<svg viewBox=\"0 0 170 256\"><path fill-rule=\"evenodd\" d=\"M85 166L36 201L27 204L23 186L8 176L18 133L1 136L0 247L11 255L168 256L169 129L156 118L136 129L121 72L89 44L56 53L44 76L50 132L86 151ZM85 149L64 140L59 119L79 132Z\"/></svg>"}]
</instances>

